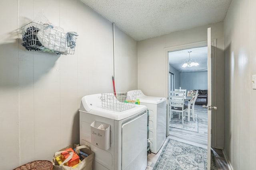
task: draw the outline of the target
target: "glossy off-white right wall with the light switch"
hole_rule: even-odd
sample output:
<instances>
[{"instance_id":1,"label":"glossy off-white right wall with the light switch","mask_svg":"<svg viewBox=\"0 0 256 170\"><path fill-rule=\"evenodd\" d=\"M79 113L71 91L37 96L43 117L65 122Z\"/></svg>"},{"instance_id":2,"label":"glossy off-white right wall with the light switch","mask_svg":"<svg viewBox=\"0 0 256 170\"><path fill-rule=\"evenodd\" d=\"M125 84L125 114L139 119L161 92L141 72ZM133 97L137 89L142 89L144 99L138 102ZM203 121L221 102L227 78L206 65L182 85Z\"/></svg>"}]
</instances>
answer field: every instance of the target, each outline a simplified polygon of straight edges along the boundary
<instances>
[{"instance_id":1,"label":"glossy off-white right wall with the light switch","mask_svg":"<svg viewBox=\"0 0 256 170\"><path fill-rule=\"evenodd\" d=\"M254 170L256 160L256 1L233 0L224 20L225 152L234 170Z\"/></svg>"}]
</instances>

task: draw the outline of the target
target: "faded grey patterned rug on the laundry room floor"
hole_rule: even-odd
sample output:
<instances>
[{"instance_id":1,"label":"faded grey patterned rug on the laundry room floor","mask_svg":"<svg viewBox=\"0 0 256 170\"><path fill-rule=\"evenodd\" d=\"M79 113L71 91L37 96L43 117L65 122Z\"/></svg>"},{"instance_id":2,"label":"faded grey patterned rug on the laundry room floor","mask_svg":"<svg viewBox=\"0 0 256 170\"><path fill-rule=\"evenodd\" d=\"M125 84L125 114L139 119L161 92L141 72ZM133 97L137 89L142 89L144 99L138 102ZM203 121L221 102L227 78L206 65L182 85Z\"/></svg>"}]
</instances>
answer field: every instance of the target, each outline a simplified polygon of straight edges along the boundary
<instances>
[{"instance_id":1,"label":"faded grey patterned rug on the laundry room floor","mask_svg":"<svg viewBox=\"0 0 256 170\"><path fill-rule=\"evenodd\" d=\"M153 170L207 170L207 149L168 139Z\"/></svg>"}]
</instances>

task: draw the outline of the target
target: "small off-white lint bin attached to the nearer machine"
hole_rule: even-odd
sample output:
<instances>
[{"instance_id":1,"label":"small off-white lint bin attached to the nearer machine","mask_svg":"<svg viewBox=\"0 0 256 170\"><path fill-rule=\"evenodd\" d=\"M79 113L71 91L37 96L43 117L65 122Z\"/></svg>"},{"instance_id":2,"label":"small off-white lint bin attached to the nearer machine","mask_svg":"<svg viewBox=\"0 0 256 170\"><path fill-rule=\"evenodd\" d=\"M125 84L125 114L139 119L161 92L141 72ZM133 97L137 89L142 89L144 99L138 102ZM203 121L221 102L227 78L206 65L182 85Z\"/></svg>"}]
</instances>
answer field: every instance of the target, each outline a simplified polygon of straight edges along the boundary
<instances>
[{"instance_id":1,"label":"small off-white lint bin attached to the nearer machine","mask_svg":"<svg viewBox=\"0 0 256 170\"><path fill-rule=\"evenodd\" d=\"M108 150L110 148L110 125L99 121L92 122L91 143L100 149Z\"/></svg>"}]
</instances>

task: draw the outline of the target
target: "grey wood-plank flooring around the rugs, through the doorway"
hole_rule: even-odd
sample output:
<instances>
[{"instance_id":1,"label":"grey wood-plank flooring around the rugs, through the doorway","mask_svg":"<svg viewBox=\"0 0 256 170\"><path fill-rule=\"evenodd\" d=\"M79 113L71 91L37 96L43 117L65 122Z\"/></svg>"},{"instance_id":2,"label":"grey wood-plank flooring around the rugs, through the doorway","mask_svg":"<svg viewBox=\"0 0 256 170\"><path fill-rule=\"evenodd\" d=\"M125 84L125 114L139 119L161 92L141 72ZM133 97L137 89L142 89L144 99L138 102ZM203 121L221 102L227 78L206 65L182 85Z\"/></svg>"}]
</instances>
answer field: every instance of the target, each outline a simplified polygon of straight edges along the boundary
<instances>
[{"instance_id":1,"label":"grey wood-plank flooring around the rugs, through the doorway","mask_svg":"<svg viewBox=\"0 0 256 170\"><path fill-rule=\"evenodd\" d=\"M166 137L166 140L158 151L157 154L150 153L148 154L148 166L147 170L153 170L158 157L160 156L162 149L164 148L168 139L174 139L182 143L187 143L197 147L202 147L207 149L207 110L203 109L200 105L195 105L195 113L198 114L198 132L187 131L183 129L177 129L170 127L170 135ZM228 165L222 153L222 150L214 149L214 157L218 170L228 170Z\"/></svg>"}]
</instances>

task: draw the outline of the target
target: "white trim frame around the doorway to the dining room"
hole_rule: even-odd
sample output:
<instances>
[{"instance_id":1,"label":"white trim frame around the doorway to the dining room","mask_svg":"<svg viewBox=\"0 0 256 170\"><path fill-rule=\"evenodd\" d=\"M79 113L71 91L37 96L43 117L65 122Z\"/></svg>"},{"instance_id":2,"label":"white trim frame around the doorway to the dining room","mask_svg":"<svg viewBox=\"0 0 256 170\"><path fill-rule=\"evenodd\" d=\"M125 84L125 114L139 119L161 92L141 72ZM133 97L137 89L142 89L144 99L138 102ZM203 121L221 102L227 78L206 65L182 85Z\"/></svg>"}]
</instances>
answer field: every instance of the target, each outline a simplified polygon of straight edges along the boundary
<instances>
[{"instance_id":1,"label":"white trim frame around the doorway to the dining room","mask_svg":"<svg viewBox=\"0 0 256 170\"><path fill-rule=\"evenodd\" d=\"M212 45L212 101L216 103L217 98L216 98L216 39L211 40L211 45ZM189 43L189 44L184 44L184 45L178 45L174 47L166 47L164 48L164 82L165 82L165 98L169 99L169 55L168 52L171 51L178 51L182 49L190 49L190 48L196 48L196 47L206 47L207 46L207 40L206 41L200 41L200 42L195 42L195 43ZM169 135L169 100L167 100L167 115L166 115L166 136ZM216 127L216 115L212 115L212 137L211 137L211 145L216 146L216 131L214 131Z\"/></svg>"}]
</instances>

